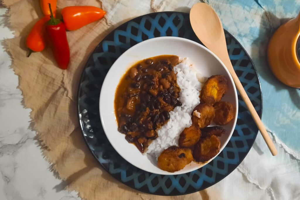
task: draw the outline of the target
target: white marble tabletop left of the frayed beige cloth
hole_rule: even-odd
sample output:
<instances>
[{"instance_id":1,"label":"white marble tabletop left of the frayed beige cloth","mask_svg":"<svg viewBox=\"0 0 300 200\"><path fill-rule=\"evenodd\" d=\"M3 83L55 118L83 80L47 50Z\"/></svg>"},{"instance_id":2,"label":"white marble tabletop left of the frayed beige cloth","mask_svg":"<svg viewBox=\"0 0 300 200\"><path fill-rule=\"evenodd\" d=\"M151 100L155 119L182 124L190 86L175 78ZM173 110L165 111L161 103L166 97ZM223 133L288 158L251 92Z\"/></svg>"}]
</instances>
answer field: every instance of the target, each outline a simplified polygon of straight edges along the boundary
<instances>
[{"instance_id":1,"label":"white marble tabletop left of the frayed beige cloth","mask_svg":"<svg viewBox=\"0 0 300 200\"><path fill-rule=\"evenodd\" d=\"M0 7L0 20L6 9ZM0 25L0 40L12 38L12 32ZM0 199L76 200L76 192L64 190L64 184L41 154L30 124L30 109L21 104L18 77L9 67L10 57L0 49Z\"/></svg>"}]
</instances>

